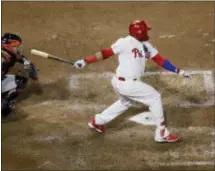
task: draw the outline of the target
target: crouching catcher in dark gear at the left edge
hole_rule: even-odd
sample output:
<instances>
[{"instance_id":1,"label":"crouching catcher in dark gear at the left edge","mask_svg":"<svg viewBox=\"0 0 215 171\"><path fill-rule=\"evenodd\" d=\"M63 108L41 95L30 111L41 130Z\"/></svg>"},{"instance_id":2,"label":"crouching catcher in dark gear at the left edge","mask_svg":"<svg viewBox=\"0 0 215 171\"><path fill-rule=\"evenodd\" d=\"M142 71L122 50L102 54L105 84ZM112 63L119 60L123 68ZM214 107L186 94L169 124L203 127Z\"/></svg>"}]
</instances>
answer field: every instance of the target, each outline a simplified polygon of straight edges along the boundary
<instances>
[{"instance_id":1,"label":"crouching catcher in dark gear at the left edge","mask_svg":"<svg viewBox=\"0 0 215 171\"><path fill-rule=\"evenodd\" d=\"M26 88L29 78L38 80L34 64L23 55L23 41L20 36L5 33L1 37L1 115L8 115L17 97ZM8 74L16 63L23 64L22 74Z\"/></svg>"}]
</instances>

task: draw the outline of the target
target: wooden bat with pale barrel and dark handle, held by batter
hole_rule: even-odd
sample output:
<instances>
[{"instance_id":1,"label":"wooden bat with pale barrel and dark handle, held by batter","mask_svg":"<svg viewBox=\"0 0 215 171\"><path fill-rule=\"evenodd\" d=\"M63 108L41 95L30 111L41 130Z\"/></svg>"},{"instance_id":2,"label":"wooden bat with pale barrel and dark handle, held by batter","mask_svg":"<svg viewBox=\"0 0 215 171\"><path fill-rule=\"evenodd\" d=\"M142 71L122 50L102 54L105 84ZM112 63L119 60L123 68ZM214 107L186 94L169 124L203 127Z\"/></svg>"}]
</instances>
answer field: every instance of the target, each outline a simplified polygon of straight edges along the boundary
<instances>
[{"instance_id":1,"label":"wooden bat with pale barrel and dark handle, held by batter","mask_svg":"<svg viewBox=\"0 0 215 171\"><path fill-rule=\"evenodd\" d=\"M74 62L72 62L72 61L60 58L58 56L55 56L55 55L52 55L52 54L49 54L49 53L46 53L46 52L43 52L43 51L40 51L40 50L31 49L31 54L37 55L37 56L40 56L40 57L43 57L43 58L52 59L52 60L56 60L56 61L59 61L59 62L74 65Z\"/></svg>"}]
</instances>

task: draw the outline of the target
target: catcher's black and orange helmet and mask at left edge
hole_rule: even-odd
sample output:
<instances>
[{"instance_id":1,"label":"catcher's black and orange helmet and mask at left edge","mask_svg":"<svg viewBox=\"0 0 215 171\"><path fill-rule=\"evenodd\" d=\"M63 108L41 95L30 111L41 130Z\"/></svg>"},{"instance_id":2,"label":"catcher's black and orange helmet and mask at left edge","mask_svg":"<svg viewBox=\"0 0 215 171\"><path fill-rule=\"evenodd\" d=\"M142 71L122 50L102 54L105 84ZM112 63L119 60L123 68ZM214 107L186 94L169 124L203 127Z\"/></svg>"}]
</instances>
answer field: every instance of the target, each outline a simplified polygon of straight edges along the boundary
<instances>
[{"instance_id":1,"label":"catcher's black and orange helmet and mask at left edge","mask_svg":"<svg viewBox=\"0 0 215 171\"><path fill-rule=\"evenodd\" d=\"M17 34L4 33L1 41L4 44L10 45L17 54L23 55L23 41Z\"/></svg>"}]
</instances>

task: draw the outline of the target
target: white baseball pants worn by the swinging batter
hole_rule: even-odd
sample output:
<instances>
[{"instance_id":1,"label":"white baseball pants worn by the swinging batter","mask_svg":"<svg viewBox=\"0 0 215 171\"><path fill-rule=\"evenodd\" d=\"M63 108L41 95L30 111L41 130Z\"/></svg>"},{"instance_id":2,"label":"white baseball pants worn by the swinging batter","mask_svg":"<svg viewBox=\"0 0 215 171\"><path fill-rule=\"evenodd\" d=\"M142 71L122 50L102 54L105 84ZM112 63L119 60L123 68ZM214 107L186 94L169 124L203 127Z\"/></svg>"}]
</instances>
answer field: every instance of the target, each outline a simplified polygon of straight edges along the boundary
<instances>
[{"instance_id":1,"label":"white baseball pants worn by the swinging batter","mask_svg":"<svg viewBox=\"0 0 215 171\"><path fill-rule=\"evenodd\" d=\"M112 78L112 86L119 95L119 100L102 113L95 115L97 125L110 122L130 108L132 101L137 101L149 106L149 110L154 114L158 128L156 132L165 128L161 95L153 87L140 80L126 79L121 81L116 76Z\"/></svg>"}]
</instances>

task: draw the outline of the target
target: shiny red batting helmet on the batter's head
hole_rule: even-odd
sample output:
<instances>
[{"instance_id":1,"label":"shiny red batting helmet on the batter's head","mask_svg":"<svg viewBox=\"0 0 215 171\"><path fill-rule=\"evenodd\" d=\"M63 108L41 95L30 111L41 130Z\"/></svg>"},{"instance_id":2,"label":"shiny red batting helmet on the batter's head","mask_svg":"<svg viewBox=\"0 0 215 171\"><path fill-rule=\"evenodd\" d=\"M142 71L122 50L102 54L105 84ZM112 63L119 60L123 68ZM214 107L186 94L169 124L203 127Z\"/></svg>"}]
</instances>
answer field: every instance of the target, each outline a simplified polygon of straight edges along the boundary
<instances>
[{"instance_id":1,"label":"shiny red batting helmet on the batter's head","mask_svg":"<svg viewBox=\"0 0 215 171\"><path fill-rule=\"evenodd\" d=\"M136 20L129 25L129 34L139 41L147 41L148 31L151 29L144 20Z\"/></svg>"}]
</instances>

